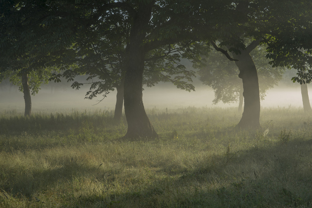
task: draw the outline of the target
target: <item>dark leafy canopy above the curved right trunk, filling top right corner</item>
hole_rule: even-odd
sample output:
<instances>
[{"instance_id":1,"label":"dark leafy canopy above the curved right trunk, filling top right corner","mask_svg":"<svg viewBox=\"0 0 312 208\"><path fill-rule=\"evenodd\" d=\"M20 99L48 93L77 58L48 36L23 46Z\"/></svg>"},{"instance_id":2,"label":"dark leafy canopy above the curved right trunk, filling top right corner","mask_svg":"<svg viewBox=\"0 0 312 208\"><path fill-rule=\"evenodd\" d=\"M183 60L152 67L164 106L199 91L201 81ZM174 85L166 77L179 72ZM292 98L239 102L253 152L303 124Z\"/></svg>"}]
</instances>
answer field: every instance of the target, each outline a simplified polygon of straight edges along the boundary
<instances>
[{"instance_id":1,"label":"dark leafy canopy above the curved right trunk, filling top right corner","mask_svg":"<svg viewBox=\"0 0 312 208\"><path fill-rule=\"evenodd\" d=\"M273 67L297 69L293 80L310 82L311 10L309 0L235 1L224 7L227 15L217 23L214 39L236 54L245 50L246 38L261 40Z\"/></svg>"}]
</instances>

